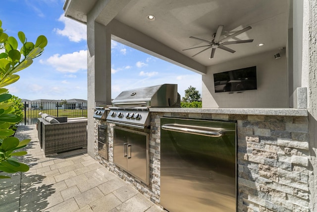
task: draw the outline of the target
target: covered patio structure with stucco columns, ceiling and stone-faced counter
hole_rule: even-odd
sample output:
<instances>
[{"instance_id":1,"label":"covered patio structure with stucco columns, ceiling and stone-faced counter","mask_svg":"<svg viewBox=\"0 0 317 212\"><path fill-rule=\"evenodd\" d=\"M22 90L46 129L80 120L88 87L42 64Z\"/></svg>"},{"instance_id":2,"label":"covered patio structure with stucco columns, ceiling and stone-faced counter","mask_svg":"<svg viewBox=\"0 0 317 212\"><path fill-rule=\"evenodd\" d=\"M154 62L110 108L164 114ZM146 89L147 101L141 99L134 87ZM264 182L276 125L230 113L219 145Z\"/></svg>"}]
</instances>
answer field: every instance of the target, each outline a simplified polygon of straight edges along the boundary
<instances>
[{"instance_id":1,"label":"covered patio structure with stucco columns, ceiling and stone-faced counter","mask_svg":"<svg viewBox=\"0 0 317 212\"><path fill-rule=\"evenodd\" d=\"M96 160L160 204L159 117L235 121L237 211L317 211L316 0L66 0L64 10L87 25L88 153ZM111 105L111 39L202 75L202 109L150 110L148 186L113 164L111 148L108 159L96 148L98 124L110 147L113 139L113 126L93 119L96 106ZM254 66L257 89L215 92L215 73Z\"/></svg>"}]
</instances>

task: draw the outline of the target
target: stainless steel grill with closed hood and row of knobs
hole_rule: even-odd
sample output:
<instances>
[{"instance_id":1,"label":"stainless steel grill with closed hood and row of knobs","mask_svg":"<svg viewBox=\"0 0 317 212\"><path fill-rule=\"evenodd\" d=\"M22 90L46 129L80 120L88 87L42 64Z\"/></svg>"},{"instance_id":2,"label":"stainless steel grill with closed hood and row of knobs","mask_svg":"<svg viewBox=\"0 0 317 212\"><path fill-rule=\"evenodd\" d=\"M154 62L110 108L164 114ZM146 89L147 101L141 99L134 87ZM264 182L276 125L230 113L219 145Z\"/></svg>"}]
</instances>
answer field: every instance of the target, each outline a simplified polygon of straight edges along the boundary
<instances>
[{"instance_id":1,"label":"stainless steel grill with closed hood and row of knobs","mask_svg":"<svg viewBox=\"0 0 317 212\"><path fill-rule=\"evenodd\" d=\"M180 107L177 84L162 84L122 91L113 99L106 121L145 129L151 122L150 107Z\"/></svg>"}]
</instances>

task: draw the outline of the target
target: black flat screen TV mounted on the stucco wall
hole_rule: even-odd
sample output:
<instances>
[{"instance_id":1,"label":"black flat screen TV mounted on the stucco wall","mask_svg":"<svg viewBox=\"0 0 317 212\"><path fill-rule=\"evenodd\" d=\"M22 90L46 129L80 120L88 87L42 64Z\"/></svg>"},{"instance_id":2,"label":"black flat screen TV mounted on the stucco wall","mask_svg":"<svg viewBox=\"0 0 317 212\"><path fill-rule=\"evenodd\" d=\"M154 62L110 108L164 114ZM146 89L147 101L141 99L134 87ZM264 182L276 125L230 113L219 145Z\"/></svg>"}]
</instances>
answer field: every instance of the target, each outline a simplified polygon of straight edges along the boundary
<instances>
[{"instance_id":1,"label":"black flat screen TV mounted on the stucco wall","mask_svg":"<svg viewBox=\"0 0 317 212\"><path fill-rule=\"evenodd\" d=\"M213 74L214 91L234 92L257 89L257 67L248 67Z\"/></svg>"}]
</instances>

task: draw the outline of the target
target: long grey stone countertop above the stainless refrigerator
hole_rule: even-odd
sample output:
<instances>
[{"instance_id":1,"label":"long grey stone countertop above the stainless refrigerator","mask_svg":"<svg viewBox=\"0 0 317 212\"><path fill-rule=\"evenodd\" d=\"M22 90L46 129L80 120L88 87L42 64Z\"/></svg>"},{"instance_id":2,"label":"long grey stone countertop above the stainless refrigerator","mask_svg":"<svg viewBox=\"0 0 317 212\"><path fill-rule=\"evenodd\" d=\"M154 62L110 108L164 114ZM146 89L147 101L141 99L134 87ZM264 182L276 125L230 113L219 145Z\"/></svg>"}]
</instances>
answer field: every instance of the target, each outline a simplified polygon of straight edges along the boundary
<instances>
[{"instance_id":1,"label":"long grey stone countertop above the stainless refrigerator","mask_svg":"<svg viewBox=\"0 0 317 212\"><path fill-rule=\"evenodd\" d=\"M213 113L267 116L308 116L307 109L294 108L150 108L150 112Z\"/></svg>"}]
</instances>

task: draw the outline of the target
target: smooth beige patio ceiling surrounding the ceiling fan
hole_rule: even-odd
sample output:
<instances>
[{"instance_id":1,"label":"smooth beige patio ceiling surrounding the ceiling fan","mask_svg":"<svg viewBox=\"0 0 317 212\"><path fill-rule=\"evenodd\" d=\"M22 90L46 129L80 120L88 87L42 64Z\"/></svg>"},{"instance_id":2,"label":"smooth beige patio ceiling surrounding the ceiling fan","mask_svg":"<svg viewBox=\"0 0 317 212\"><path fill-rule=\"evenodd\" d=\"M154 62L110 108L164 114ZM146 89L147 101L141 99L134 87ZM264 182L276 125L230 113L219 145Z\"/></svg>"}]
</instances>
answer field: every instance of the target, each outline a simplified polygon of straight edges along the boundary
<instances>
[{"instance_id":1,"label":"smooth beige patio ceiling surrounding the ceiling fan","mask_svg":"<svg viewBox=\"0 0 317 212\"><path fill-rule=\"evenodd\" d=\"M81 0L72 1L77 1L78 7ZM79 10L77 8L77 13L74 11L73 15L68 15L80 16ZM84 13L87 5L81 10ZM218 25L224 25L221 38L247 26L252 27L229 40L254 39L252 43L226 46L235 53L217 49L210 60L209 49L192 58L204 66L211 66L265 51L278 52L279 48L286 47L288 13L289 0L130 0L115 19L190 58L203 48L183 49L206 45L190 36L211 41ZM149 21L149 14L155 15L156 19ZM85 22L84 19L81 21ZM258 47L259 43L264 43L264 46Z\"/></svg>"}]
</instances>

